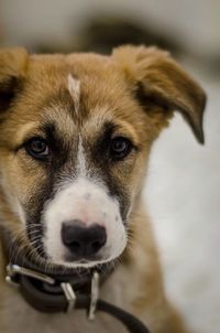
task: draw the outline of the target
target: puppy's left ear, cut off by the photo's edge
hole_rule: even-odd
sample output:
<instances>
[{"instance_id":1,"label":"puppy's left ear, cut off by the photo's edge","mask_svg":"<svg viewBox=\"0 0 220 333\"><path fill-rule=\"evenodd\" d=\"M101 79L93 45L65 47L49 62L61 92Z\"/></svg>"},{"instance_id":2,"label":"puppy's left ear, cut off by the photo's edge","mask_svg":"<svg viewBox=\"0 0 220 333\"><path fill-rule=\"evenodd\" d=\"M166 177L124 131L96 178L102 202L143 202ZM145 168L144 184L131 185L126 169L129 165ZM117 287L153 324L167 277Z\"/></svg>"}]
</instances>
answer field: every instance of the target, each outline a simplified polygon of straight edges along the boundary
<instances>
[{"instance_id":1,"label":"puppy's left ear, cut off by the photo's edge","mask_svg":"<svg viewBox=\"0 0 220 333\"><path fill-rule=\"evenodd\" d=\"M0 50L0 111L7 110L25 76L28 52L22 49Z\"/></svg>"}]
</instances>

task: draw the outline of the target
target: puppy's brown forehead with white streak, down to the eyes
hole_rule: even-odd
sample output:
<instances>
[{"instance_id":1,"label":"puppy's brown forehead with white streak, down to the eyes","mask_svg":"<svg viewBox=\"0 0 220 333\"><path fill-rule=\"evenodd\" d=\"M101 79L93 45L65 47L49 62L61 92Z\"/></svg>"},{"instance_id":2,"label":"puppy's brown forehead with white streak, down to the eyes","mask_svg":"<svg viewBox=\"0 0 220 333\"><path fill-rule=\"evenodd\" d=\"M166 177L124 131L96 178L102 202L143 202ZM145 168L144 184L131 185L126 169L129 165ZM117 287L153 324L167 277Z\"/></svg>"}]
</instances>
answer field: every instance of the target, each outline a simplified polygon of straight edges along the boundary
<instances>
[{"instance_id":1,"label":"puppy's brown forehead with white streak, down to the eyes","mask_svg":"<svg viewBox=\"0 0 220 333\"><path fill-rule=\"evenodd\" d=\"M141 138L143 114L110 57L33 56L18 105L7 119L15 125L9 125L8 133L18 138L19 144L35 128L54 123L67 140L79 127L92 138L105 123L120 122L124 132L128 128L134 135L136 129L142 131Z\"/></svg>"}]
</instances>

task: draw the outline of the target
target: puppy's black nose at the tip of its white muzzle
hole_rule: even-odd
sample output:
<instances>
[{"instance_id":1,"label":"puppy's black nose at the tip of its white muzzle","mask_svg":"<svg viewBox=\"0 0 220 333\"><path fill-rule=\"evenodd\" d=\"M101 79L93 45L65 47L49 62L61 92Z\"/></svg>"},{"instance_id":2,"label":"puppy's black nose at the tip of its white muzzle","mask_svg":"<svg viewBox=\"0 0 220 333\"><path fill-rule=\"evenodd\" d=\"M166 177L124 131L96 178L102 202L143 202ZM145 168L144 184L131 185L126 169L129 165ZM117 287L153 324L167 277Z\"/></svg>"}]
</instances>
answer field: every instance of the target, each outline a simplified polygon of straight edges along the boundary
<instances>
[{"instance_id":1,"label":"puppy's black nose at the tip of its white muzzle","mask_svg":"<svg viewBox=\"0 0 220 333\"><path fill-rule=\"evenodd\" d=\"M86 226L82 222L74 219L63 223L62 240L74 255L75 260L91 258L107 241L106 228L92 224Z\"/></svg>"}]
</instances>

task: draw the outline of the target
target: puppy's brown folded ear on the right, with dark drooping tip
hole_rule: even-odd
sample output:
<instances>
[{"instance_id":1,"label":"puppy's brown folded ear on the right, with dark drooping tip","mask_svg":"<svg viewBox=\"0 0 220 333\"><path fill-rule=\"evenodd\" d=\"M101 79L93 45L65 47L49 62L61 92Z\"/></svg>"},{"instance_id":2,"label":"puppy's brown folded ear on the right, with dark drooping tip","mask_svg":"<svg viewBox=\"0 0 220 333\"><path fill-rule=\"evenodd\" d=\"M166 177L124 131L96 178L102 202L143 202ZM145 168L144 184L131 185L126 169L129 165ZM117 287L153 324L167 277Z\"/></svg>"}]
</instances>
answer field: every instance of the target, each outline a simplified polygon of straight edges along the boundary
<instances>
[{"instance_id":1,"label":"puppy's brown folded ear on the right, with dark drooping tip","mask_svg":"<svg viewBox=\"0 0 220 333\"><path fill-rule=\"evenodd\" d=\"M148 99L165 109L179 110L198 141L204 143L206 95L167 52L156 47L121 46L113 51L113 57L123 66L127 79L135 86L142 104Z\"/></svg>"}]
</instances>

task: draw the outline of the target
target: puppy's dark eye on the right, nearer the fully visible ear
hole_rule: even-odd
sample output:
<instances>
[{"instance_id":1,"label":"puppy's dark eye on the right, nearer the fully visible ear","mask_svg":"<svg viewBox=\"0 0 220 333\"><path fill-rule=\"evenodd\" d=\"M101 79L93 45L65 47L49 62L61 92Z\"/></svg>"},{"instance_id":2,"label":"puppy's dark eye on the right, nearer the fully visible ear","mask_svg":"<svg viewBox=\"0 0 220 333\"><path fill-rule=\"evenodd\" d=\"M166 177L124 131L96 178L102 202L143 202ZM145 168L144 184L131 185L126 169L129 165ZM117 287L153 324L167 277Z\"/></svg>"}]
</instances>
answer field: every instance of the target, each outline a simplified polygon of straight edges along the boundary
<instances>
[{"instance_id":1,"label":"puppy's dark eye on the right, nearer the fully visible ear","mask_svg":"<svg viewBox=\"0 0 220 333\"><path fill-rule=\"evenodd\" d=\"M111 140L109 153L113 160L122 160L131 152L131 149L132 143L129 139L117 137Z\"/></svg>"}]
</instances>

